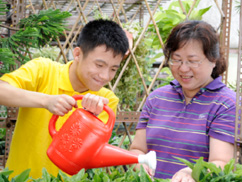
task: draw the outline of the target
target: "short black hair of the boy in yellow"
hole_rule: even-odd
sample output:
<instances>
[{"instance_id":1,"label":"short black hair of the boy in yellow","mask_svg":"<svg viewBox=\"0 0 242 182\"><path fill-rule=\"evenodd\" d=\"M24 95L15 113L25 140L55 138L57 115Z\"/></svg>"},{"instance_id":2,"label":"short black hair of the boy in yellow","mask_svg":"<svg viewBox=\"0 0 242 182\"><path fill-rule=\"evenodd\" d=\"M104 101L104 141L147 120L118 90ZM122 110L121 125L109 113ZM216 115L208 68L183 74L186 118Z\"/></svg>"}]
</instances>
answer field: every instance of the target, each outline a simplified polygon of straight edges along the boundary
<instances>
[{"instance_id":1,"label":"short black hair of the boy in yellow","mask_svg":"<svg viewBox=\"0 0 242 182\"><path fill-rule=\"evenodd\" d=\"M129 48L124 30L114 21L99 19L88 22L78 37L77 46L82 49L85 57L101 45L106 45L107 50L113 50L115 56L124 56Z\"/></svg>"}]
</instances>

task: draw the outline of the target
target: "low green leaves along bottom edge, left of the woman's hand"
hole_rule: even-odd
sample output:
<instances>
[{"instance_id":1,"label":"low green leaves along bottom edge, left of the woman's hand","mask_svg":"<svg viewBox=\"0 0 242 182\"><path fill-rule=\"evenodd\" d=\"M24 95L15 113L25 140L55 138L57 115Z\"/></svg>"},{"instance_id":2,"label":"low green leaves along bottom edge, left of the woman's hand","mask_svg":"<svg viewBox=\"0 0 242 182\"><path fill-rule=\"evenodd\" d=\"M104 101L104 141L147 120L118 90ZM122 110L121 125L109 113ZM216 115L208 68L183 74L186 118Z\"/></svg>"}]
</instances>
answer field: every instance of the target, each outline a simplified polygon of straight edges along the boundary
<instances>
[{"instance_id":1,"label":"low green leaves along bottom edge, left of the woman's hand","mask_svg":"<svg viewBox=\"0 0 242 182\"><path fill-rule=\"evenodd\" d=\"M0 172L1 182L10 182L9 175L13 171L5 168ZM134 171L133 167L127 167L124 171L122 166L89 169L85 172L84 169L76 175L69 176L62 171L59 171L57 176L53 176L47 172L45 168L42 170L42 177L33 179L29 177L30 169L23 171L21 174L13 177L11 182L152 182L152 179L141 167L140 171ZM155 182L170 182L170 179L153 179Z\"/></svg>"}]
</instances>

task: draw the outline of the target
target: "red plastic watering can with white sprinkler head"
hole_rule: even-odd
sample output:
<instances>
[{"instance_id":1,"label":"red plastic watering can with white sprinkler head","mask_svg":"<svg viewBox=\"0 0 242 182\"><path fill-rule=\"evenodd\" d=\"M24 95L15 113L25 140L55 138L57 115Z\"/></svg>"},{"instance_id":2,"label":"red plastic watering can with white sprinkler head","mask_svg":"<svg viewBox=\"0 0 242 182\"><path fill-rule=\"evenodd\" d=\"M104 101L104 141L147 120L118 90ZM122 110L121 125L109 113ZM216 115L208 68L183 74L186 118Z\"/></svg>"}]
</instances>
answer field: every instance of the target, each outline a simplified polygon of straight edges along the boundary
<instances>
[{"instance_id":1,"label":"red plastic watering can with white sprinkler head","mask_svg":"<svg viewBox=\"0 0 242 182\"><path fill-rule=\"evenodd\" d=\"M75 100L80 100L82 97L82 95L73 96ZM115 123L115 114L106 105L103 109L109 115L106 124L92 113L78 108L59 131L55 129L59 116L53 115L49 123L49 132L53 141L47 150L50 160L70 175L78 173L83 168L134 163L144 163L155 170L156 153L154 151L146 155L138 155L108 144Z\"/></svg>"}]
</instances>

